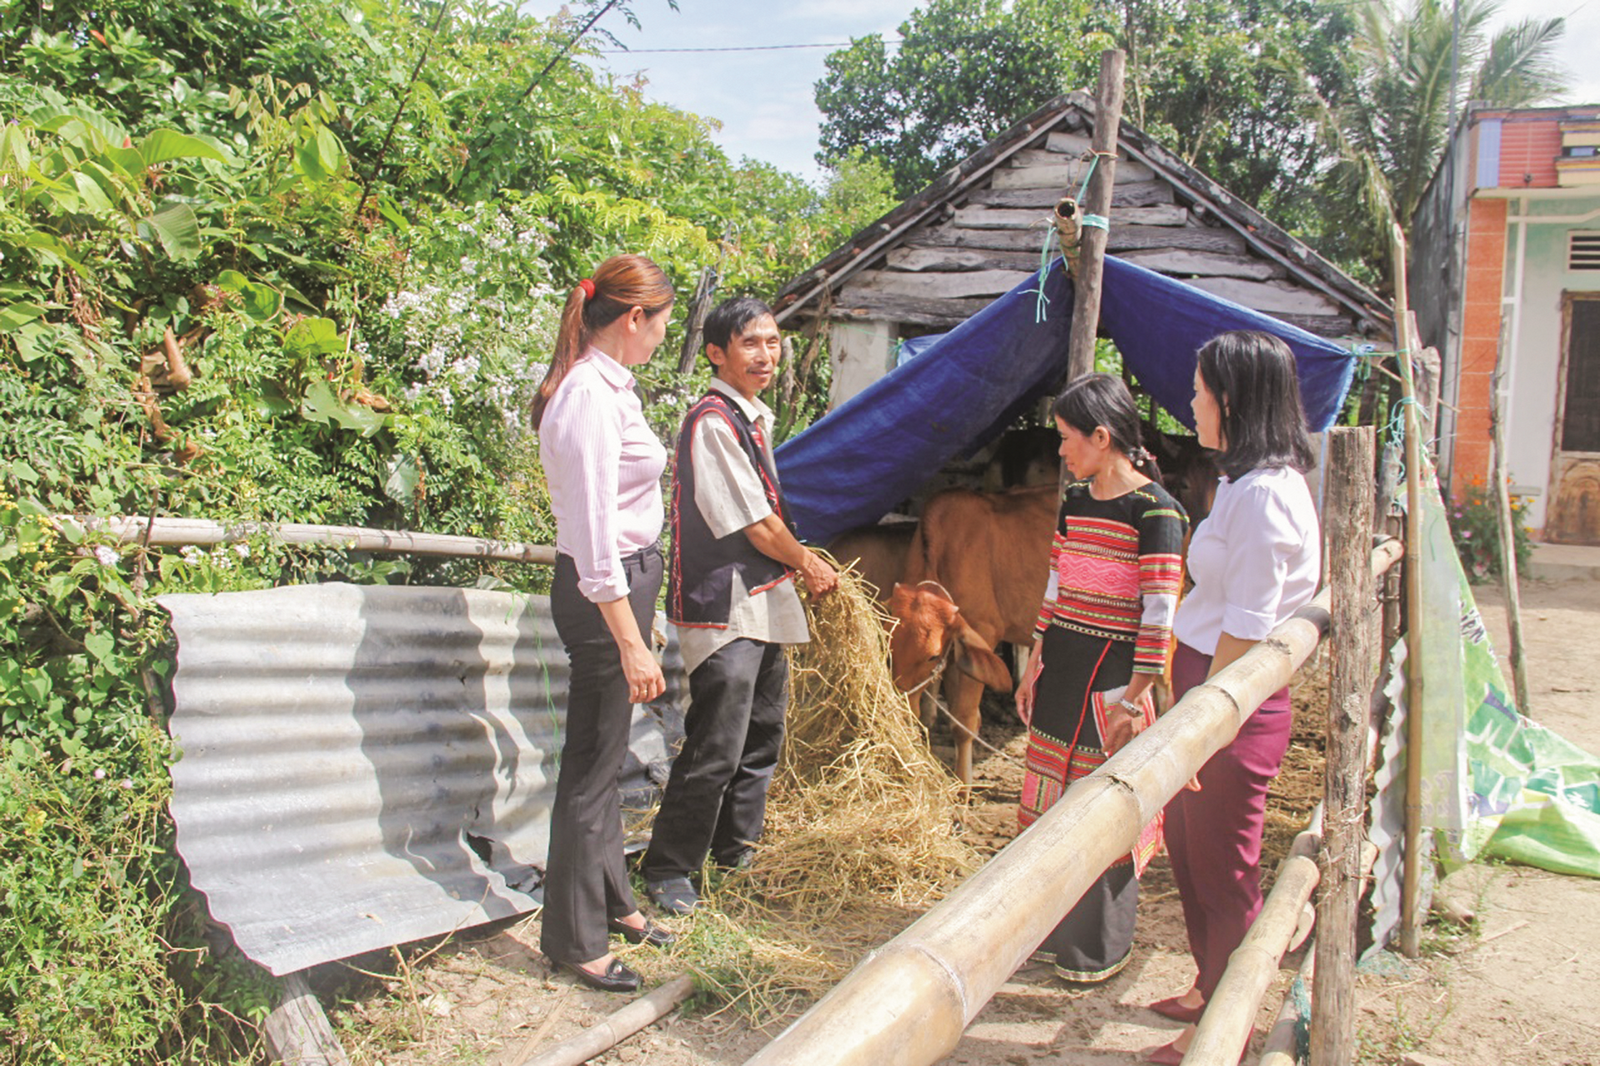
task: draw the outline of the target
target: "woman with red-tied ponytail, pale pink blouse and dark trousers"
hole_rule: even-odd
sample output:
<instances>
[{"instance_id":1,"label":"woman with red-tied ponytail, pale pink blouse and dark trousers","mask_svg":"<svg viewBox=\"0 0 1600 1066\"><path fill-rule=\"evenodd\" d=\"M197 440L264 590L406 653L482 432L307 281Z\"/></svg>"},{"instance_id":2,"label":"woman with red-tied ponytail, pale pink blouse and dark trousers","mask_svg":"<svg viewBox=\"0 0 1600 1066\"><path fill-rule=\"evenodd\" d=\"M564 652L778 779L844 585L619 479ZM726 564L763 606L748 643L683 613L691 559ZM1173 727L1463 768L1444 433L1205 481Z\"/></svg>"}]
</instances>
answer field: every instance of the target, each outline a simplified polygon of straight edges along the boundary
<instances>
[{"instance_id":1,"label":"woman with red-tied ponytail, pale pink blouse and dark trousers","mask_svg":"<svg viewBox=\"0 0 1600 1066\"><path fill-rule=\"evenodd\" d=\"M638 973L608 933L664 948L622 861L618 775L632 706L666 688L645 635L661 591L661 472L627 367L648 362L672 317L672 283L643 256L613 256L566 298L533 402L555 512L550 613L566 645L566 738L550 812L539 948L590 988L632 992Z\"/></svg>"}]
</instances>

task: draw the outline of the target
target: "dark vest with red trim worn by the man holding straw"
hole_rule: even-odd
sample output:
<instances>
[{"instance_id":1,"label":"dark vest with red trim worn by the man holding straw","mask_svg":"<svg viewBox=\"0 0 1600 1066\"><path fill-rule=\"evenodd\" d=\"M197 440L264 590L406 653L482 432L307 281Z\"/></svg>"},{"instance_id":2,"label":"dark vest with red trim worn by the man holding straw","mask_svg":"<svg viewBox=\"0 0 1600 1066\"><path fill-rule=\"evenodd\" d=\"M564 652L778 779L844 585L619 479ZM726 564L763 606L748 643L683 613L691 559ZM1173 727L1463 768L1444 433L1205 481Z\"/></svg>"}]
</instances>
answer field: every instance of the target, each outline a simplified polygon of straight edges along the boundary
<instances>
[{"instance_id":1,"label":"dark vest with red trim worn by the man holding straw","mask_svg":"<svg viewBox=\"0 0 1600 1066\"><path fill-rule=\"evenodd\" d=\"M778 517L784 517L782 496L778 491L778 472L768 466L757 443L760 429L746 418L739 405L720 392L707 392L683 416L678 429L678 445L672 458L672 559L667 567L667 618L677 626L704 626L720 629L728 624L733 611L733 575L739 575L744 589L752 595L763 592L789 578L789 568L776 559L755 551L744 530L728 536L712 536L706 517L694 504L694 463L690 448L694 427L702 418L723 418L733 426L739 447L762 479L766 503Z\"/></svg>"}]
</instances>

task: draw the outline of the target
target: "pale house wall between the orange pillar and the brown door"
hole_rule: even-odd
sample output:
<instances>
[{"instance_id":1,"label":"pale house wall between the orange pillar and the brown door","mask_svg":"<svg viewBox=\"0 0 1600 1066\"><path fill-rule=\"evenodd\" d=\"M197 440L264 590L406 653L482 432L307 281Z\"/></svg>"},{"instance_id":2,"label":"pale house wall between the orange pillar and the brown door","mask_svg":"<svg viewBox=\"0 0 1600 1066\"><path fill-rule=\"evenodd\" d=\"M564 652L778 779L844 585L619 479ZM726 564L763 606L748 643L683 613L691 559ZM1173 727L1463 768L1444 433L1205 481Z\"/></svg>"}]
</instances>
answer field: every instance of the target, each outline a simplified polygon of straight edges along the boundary
<instances>
[{"instance_id":1,"label":"pale house wall between the orange pillar and the brown door","mask_svg":"<svg viewBox=\"0 0 1600 1066\"><path fill-rule=\"evenodd\" d=\"M1600 208L1600 195L1530 202L1512 200L1510 214L1573 216ZM1506 291L1514 293L1520 222L1506 232ZM1573 226L1566 222L1528 224L1523 253L1520 322L1517 323L1515 365L1510 373L1510 402L1506 418L1506 458L1512 485L1534 487L1526 519L1534 530L1544 525L1550 501L1550 451L1555 442L1555 403L1562 383L1562 293L1600 291L1600 271L1568 271L1566 242L1573 230L1600 230L1600 218Z\"/></svg>"}]
</instances>

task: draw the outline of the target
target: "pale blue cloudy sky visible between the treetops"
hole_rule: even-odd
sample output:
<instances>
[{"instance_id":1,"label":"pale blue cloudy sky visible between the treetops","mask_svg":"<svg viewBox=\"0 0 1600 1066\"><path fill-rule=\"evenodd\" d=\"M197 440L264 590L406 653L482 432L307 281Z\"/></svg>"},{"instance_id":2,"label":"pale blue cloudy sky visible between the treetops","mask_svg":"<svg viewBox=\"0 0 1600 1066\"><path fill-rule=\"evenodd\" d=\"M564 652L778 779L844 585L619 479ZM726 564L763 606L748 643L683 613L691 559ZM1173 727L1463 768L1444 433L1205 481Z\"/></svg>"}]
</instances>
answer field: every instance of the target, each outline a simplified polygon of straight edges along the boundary
<instances>
[{"instance_id":1,"label":"pale blue cloudy sky visible between the treetops","mask_svg":"<svg viewBox=\"0 0 1600 1066\"><path fill-rule=\"evenodd\" d=\"M722 123L717 142L734 160L776 163L819 181L818 126L822 115L813 86L830 48L773 51L645 51L653 48L728 48L771 45L845 45L851 37L898 27L917 0L632 0L642 24L634 29L614 11L602 26L632 51L597 62L619 78L642 74L646 94ZM523 5L530 14L554 14L558 0ZM1571 90L1555 102L1600 104L1600 0L1502 0L1496 26L1525 18L1566 18L1558 58L1571 72Z\"/></svg>"}]
</instances>

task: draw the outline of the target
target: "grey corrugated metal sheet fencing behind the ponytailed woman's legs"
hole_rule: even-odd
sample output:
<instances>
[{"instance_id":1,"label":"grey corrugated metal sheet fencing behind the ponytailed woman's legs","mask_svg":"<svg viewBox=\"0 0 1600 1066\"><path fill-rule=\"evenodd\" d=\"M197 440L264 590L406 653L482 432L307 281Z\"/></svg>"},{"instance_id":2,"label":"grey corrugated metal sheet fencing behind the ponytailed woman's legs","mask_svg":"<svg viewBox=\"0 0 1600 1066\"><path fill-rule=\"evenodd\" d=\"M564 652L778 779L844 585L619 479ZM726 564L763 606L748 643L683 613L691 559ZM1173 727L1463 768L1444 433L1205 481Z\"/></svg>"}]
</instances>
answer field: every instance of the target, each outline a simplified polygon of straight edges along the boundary
<instances>
[{"instance_id":1,"label":"grey corrugated metal sheet fencing behind the ponytailed woman's legs","mask_svg":"<svg viewBox=\"0 0 1600 1066\"><path fill-rule=\"evenodd\" d=\"M546 597L320 584L160 603L178 850L246 956L283 975L536 906L568 675ZM634 804L682 736L667 651L667 695L635 711Z\"/></svg>"}]
</instances>

